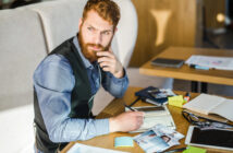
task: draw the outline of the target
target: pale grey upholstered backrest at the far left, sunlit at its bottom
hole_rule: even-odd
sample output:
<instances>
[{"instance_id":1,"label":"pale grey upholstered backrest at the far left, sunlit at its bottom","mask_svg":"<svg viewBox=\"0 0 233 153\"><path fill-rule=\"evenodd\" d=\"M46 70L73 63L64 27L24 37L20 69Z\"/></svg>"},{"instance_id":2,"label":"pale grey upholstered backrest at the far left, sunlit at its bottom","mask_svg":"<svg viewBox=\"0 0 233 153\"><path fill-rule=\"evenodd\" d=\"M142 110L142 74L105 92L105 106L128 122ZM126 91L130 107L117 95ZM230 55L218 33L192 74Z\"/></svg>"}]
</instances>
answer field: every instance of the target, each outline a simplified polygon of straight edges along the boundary
<instances>
[{"instance_id":1,"label":"pale grey upholstered backrest at the far left, sunlit at its bottom","mask_svg":"<svg viewBox=\"0 0 233 153\"><path fill-rule=\"evenodd\" d=\"M0 11L1 152L33 152L33 72L46 52L36 12L23 9Z\"/></svg>"}]
</instances>

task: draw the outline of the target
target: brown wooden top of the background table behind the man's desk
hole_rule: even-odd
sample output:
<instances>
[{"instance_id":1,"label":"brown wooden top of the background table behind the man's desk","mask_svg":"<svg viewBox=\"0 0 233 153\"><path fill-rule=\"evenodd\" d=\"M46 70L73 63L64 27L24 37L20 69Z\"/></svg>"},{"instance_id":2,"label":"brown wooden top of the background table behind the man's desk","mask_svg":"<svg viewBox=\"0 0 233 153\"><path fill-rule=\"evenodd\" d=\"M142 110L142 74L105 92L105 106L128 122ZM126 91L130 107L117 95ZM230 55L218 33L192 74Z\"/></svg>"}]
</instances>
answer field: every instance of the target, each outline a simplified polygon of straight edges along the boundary
<instances>
[{"instance_id":1,"label":"brown wooden top of the background table behind the man's desk","mask_svg":"<svg viewBox=\"0 0 233 153\"><path fill-rule=\"evenodd\" d=\"M162 51L161 54L159 54L158 56L156 56L155 58L162 57L162 58L186 60L192 55L233 57L233 50L170 47L164 51ZM187 64L183 64L179 69L155 67L150 64L151 60L146 62L139 68L139 72L142 74L233 85L233 71L196 70L196 69L189 68Z\"/></svg>"}]
</instances>

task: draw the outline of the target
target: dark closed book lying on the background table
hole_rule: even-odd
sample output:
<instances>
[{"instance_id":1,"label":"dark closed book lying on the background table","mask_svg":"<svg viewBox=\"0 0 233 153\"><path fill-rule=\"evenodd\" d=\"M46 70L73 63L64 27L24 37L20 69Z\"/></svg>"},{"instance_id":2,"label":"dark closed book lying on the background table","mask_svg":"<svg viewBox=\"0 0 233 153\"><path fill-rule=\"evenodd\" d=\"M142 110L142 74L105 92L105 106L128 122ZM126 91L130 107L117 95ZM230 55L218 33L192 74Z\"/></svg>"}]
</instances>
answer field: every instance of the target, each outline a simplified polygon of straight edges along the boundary
<instances>
[{"instance_id":1,"label":"dark closed book lying on the background table","mask_svg":"<svg viewBox=\"0 0 233 153\"><path fill-rule=\"evenodd\" d=\"M151 61L152 66L180 68L184 63L182 59L156 58Z\"/></svg>"}]
</instances>

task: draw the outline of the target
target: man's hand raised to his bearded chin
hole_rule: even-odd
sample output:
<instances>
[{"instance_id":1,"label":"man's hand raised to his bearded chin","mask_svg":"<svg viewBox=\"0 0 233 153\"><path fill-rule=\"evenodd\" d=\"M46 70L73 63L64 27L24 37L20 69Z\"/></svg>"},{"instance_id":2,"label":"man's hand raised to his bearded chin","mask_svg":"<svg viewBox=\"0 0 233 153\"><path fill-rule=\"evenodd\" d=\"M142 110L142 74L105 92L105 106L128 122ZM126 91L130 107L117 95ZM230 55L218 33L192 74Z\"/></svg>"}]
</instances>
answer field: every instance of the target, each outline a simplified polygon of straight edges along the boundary
<instances>
[{"instance_id":1,"label":"man's hand raised to his bearded chin","mask_svg":"<svg viewBox=\"0 0 233 153\"><path fill-rule=\"evenodd\" d=\"M99 57L98 62L103 71L111 72L115 78L124 76L124 69L111 48L108 51L98 51L96 55Z\"/></svg>"}]
</instances>

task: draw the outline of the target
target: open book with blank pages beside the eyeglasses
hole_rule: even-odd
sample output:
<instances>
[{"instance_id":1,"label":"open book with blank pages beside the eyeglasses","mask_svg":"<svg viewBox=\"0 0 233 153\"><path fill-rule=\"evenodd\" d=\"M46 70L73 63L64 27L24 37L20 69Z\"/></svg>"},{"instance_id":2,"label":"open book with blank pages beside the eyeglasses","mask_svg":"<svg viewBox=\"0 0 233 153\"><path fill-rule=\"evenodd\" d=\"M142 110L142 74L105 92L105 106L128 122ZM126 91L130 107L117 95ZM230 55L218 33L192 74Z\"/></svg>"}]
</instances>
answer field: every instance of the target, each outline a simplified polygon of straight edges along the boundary
<instances>
[{"instance_id":1,"label":"open book with blank pages beside the eyeglasses","mask_svg":"<svg viewBox=\"0 0 233 153\"><path fill-rule=\"evenodd\" d=\"M200 94L191 102L183 105L183 108L205 115L218 115L233 121L233 99L217 95Z\"/></svg>"}]
</instances>

